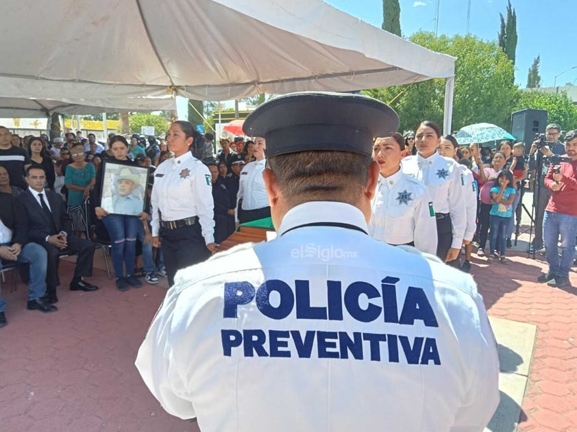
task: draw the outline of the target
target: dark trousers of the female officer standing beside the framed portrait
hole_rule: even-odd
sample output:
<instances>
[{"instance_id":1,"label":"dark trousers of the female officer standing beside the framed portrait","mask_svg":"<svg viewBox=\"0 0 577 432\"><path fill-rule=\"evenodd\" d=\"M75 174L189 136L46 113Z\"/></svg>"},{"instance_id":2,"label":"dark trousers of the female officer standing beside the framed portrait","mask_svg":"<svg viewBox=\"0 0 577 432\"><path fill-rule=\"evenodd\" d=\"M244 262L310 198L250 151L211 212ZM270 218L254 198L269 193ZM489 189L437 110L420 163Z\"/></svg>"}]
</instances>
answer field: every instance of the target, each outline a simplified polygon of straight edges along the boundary
<instances>
[{"instance_id":1,"label":"dark trousers of the female officer standing beside the framed portrait","mask_svg":"<svg viewBox=\"0 0 577 432\"><path fill-rule=\"evenodd\" d=\"M176 229L160 228L160 239L170 286L174 284L177 270L203 262L211 255L198 221Z\"/></svg>"}]
</instances>

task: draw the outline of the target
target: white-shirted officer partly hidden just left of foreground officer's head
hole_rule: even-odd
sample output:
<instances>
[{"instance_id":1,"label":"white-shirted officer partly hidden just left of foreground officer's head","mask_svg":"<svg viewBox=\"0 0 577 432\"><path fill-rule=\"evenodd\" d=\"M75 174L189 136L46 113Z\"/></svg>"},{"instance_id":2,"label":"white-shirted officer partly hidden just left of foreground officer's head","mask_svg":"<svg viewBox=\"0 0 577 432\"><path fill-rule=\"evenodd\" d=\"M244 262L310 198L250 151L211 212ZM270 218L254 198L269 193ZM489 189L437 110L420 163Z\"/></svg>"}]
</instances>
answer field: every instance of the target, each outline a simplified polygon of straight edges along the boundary
<instances>
[{"instance_id":1,"label":"white-shirted officer partly hidden just left of foreground officer's head","mask_svg":"<svg viewBox=\"0 0 577 432\"><path fill-rule=\"evenodd\" d=\"M265 181L262 180L262 172L265 170L267 160L265 150L267 142L260 136L254 139L253 156L256 161L245 165L238 182L238 194L236 196L236 222L246 223L251 220L271 217L269 197L265 189Z\"/></svg>"}]
</instances>

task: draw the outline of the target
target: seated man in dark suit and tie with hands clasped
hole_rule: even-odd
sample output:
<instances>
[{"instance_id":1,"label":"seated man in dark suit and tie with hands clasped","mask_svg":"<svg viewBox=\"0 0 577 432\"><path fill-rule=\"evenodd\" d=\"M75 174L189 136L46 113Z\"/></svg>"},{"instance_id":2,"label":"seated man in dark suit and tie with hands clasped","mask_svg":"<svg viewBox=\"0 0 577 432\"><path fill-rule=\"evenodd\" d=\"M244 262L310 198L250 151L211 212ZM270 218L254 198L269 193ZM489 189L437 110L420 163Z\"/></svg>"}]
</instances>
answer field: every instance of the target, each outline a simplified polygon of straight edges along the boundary
<instances>
[{"instance_id":1,"label":"seated man in dark suit and tie with hands clasped","mask_svg":"<svg viewBox=\"0 0 577 432\"><path fill-rule=\"evenodd\" d=\"M45 190L45 181L46 173L41 165L29 166L26 169L28 189L19 200L25 209L30 240L40 244L48 253L46 297L56 303L56 287L60 285L58 257L64 249L77 254L71 291L95 291L98 287L82 280L84 276L92 276L94 244L73 234L72 222L62 199L56 192Z\"/></svg>"}]
</instances>

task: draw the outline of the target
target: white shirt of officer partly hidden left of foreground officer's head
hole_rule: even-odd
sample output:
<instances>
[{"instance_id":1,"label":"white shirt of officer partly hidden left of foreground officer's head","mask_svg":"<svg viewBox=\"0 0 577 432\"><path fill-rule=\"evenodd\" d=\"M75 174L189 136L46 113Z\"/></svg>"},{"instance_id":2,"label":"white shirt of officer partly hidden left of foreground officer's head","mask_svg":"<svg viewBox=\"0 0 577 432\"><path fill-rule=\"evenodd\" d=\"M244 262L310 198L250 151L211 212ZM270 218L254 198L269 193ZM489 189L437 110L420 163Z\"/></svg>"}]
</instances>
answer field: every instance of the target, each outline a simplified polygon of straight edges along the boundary
<instances>
[{"instance_id":1,"label":"white shirt of officer partly hidden left of foreground officer's head","mask_svg":"<svg viewBox=\"0 0 577 432\"><path fill-rule=\"evenodd\" d=\"M256 210L269 206L269 196L262 179L267 160L256 160L246 164L241 171L236 195L236 222L238 222L238 203L243 200L243 210Z\"/></svg>"}]
</instances>

